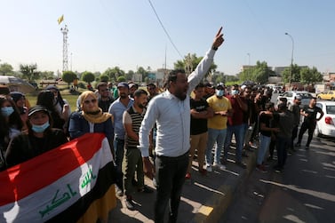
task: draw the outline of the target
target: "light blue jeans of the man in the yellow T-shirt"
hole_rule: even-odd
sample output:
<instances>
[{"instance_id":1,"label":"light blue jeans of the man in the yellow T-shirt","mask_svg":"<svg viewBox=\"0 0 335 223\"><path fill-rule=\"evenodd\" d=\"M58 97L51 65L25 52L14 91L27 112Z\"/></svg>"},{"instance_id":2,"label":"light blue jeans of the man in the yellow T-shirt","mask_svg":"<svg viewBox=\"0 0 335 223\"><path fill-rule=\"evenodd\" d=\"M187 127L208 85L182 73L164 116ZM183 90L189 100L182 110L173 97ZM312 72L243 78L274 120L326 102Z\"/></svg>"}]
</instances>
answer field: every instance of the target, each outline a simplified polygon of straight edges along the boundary
<instances>
[{"instance_id":1,"label":"light blue jeans of the man in the yellow T-shirt","mask_svg":"<svg viewBox=\"0 0 335 223\"><path fill-rule=\"evenodd\" d=\"M220 163L220 156L227 135L227 129L215 130L208 129L207 149L206 149L206 164L211 165L211 149L214 147L214 143L217 143L215 147L214 163Z\"/></svg>"}]
</instances>

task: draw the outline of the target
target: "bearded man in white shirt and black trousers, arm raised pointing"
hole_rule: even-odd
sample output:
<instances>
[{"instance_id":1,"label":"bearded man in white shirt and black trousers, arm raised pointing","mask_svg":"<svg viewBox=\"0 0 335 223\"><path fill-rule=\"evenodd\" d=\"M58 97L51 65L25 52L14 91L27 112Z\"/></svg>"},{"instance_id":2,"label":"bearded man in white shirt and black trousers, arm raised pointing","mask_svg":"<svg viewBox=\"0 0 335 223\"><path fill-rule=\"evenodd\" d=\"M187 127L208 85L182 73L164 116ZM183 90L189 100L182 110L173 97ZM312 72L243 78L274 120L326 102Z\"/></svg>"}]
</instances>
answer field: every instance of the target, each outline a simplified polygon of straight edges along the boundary
<instances>
[{"instance_id":1,"label":"bearded man in white shirt and black trousers, arm raised pointing","mask_svg":"<svg viewBox=\"0 0 335 223\"><path fill-rule=\"evenodd\" d=\"M148 104L140 127L140 150L146 175L153 178L153 164L148 159L149 133L156 123L156 203L155 222L164 221L164 212L170 199L169 222L176 222L181 189L185 181L190 147L189 94L208 72L215 52L223 43L222 28L214 38L211 50L188 77L184 70L172 70L166 92L157 95Z\"/></svg>"}]
</instances>

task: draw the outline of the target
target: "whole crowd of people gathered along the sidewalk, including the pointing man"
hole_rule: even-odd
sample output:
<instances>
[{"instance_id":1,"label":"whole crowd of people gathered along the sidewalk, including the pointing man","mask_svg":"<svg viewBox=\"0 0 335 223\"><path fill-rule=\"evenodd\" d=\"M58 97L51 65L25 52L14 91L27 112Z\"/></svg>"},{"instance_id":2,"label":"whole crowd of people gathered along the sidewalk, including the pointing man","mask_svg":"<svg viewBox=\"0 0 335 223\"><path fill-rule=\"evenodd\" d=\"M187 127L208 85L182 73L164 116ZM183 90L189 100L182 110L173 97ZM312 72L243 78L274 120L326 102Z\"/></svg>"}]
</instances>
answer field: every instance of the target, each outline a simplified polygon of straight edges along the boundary
<instances>
[{"instance_id":1,"label":"whole crowd of people gathered along the sidewalk, including the pointing man","mask_svg":"<svg viewBox=\"0 0 335 223\"><path fill-rule=\"evenodd\" d=\"M156 222L164 221L168 203L169 220L177 220L182 186L195 174L195 157L197 171L203 176L213 169L227 169L233 135L236 165L245 169L243 156L257 148L256 168L265 172L276 149L275 171L283 171L287 148L299 147L308 130L308 149L315 123L321 118L316 114L323 113L315 107L316 99L300 108L297 97L288 110L284 99L278 105L272 103L272 91L264 87L201 83L223 42L219 29L195 71L189 76L183 70L171 71L162 93L156 84L148 84L145 91L138 84L122 82L113 91L107 83L100 83L96 92L81 93L72 113L56 86L39 92L36 105L30 108L23 93L2 87L1 170L87 132L102 132L115 159L116 195L124 196L126 207L133 210L134 188L152 193L144 176L153 179ZM305 119L298 134L300 115Z\"/></svg>"}]
</instances>

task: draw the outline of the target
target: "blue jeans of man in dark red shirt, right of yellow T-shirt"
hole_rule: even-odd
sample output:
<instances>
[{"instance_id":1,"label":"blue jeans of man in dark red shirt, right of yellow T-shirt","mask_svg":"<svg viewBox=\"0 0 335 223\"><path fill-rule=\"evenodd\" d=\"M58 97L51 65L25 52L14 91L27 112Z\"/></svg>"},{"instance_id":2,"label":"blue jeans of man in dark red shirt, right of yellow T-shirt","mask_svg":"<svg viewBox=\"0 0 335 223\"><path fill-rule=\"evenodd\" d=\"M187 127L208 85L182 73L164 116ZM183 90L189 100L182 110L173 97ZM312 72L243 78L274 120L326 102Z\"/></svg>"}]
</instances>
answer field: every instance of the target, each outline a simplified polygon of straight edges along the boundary
<instances>
[{"instance_id":1,"label":"blue jeans of man in dark red shirt, right of yellow T-shirt","mask_svg":"<svg viewBox=\"0 0 335 223\"><path fill-rule=\"evenodd\" d=\"M238 124L238 125L228 125L227 127L227 137L225 140L225 153L224 153L224 159L227 160L228 156L228 149L231 144L231 139L233 137L233 133L235 135L235 141L236 141L236 162L242 161L242 149L243 149L243 139L244 139L244 125Z\"/></svg>"}]
</instances>

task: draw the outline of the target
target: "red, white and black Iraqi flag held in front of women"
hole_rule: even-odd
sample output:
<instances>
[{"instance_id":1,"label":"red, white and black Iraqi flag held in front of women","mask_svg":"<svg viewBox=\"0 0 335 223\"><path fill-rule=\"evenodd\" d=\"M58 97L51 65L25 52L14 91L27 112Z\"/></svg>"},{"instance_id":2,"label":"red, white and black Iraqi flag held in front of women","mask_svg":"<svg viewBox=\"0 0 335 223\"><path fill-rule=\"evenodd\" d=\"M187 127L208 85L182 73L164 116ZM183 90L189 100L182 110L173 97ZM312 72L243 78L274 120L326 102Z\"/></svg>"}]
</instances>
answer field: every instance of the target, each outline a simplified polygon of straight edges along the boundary
<instances>
[{"instance_id":1,"label":"red, white and black Iraqi flag held in front of women","mask_svg":"<svg viewBox=\"0 0 335 223\"><path fill-rule=\"evenodd\" d=\"M96 222L116 207L104 134L84 136L0 172L0 222Z\"/></svg>"}]
</instances>

